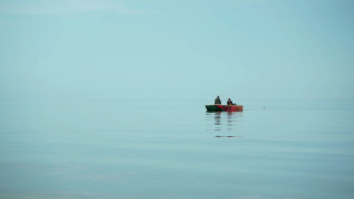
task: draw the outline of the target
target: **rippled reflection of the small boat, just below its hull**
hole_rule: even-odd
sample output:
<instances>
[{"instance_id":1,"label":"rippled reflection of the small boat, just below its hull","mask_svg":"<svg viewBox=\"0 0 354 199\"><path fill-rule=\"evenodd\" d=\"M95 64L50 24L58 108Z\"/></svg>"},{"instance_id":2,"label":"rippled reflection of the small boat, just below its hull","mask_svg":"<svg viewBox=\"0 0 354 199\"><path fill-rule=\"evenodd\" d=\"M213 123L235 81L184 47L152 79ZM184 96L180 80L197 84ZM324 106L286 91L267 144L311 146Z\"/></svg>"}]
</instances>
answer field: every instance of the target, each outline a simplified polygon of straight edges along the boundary
<instances>
[{"instance_id":1,"label":"rippled reflection of the small boat, just below its hull","mask_svg":"<svg viewBox=\"0 0 354 199\"><path fill-rule=\"evenodd\" d=\"M206 112L207 129L215 132L233 132L235 126L241 117L242 112Z\"/></svg>"}]
</instances>

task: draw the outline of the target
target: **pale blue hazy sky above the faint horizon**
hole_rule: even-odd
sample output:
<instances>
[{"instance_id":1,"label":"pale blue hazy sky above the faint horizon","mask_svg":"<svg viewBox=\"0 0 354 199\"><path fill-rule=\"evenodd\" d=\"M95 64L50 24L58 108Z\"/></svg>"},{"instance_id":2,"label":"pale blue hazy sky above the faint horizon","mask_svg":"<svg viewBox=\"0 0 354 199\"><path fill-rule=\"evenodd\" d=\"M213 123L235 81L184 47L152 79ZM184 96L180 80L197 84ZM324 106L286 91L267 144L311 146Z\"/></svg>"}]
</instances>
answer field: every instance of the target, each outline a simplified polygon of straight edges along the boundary
<instances>
[{"instance_id":1,"label":"pale blue hazy sky above the faint horizon","mask_svg":"<svg viewBox=\"0 0 354 199\"><path fill-rule=\"evenodd\" d=\"M0 0L0 98L354 98L352 0Z\"/></svg>"}]
</instances>

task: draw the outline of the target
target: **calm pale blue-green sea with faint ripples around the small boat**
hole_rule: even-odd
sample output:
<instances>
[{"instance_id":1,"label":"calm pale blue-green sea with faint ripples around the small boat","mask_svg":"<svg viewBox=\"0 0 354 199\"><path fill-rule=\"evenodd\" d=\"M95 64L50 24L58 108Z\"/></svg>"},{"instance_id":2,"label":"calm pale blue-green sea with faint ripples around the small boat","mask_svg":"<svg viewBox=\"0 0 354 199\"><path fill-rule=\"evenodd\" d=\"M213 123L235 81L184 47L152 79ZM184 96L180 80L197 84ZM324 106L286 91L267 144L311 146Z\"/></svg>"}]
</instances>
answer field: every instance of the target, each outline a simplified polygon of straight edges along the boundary
<instances>
[{"instance_id":1,"label":"calm pale blue-green sea with faint ripples around the small boat","mask_svg":"<svg viewBox=\"0 0 354 199\"><path fill-rule=\"evenodd\" d=\"M0 198L354 198L354 101L210 102L1 101Z\"/></svg>"}]
</instances>

